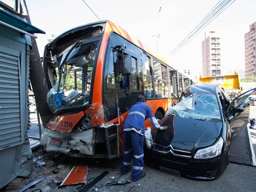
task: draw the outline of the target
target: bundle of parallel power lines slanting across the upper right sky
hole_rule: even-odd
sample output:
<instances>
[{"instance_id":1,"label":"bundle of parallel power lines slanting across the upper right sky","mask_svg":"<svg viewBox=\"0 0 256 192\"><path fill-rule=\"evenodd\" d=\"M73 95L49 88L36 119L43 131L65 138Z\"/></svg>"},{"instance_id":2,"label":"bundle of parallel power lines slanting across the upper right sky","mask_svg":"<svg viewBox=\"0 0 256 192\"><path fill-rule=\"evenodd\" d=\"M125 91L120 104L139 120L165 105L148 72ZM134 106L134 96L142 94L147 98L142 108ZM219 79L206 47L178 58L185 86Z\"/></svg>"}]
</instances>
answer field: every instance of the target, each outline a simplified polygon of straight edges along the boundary
<instances>
[{"instance_id":1,"label":"bundle of parallel power lines slanting across the upper right sky","mask_svg":"<svg viewBox=\"0 0 256 192\"><path fill-rule=\"evenodd\" d=\"M211 11L200 21L199 24L190 32L190 34L184 38L171 52L171 55L175 55L183 46L194 38L200 31L202 31L206 26L208 26L211 21L213 21L219 14L221 14L225 9L227 9L235 0L221 0L211 9Z\"/></svg>"}]
</instances>

